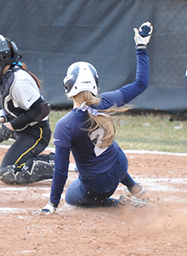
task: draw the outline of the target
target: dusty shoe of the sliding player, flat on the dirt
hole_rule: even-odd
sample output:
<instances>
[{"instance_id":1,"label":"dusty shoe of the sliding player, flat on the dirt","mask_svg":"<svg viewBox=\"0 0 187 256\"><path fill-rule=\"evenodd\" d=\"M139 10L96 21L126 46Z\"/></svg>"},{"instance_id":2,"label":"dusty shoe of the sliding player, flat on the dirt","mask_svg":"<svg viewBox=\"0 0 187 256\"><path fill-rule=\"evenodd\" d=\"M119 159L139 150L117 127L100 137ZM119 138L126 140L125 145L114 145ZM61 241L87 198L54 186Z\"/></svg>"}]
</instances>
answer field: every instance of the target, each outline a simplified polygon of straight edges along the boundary
<instances>
[{"instance_id":1,"label":"dusty shoe of the sliding player, flat on the dirt","mask_svg":"<svg viewBox=\"0 0 187 256\"><path fill-rule=\"evenodd\" d=\"M136 197L127 195L120 195L119 204L135 208L152 206L152 203L148 199L138 199Z\"/></svg>"}]
</instances>

